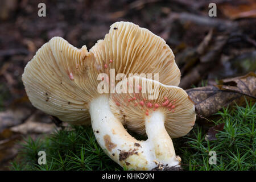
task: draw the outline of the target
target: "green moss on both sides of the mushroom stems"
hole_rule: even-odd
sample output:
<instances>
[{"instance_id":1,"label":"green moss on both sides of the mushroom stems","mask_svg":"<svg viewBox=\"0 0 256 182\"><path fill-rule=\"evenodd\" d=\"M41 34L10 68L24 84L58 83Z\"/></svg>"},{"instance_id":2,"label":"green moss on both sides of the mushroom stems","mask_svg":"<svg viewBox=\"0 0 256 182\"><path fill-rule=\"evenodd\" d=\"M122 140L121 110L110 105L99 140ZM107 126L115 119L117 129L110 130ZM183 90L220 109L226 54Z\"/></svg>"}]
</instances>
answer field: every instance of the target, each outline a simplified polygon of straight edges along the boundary
<instances>
[{"instance_id":1,"label":"green moss on both sides of the mushroom stems","mask_svg":"<svg viewBox=\"0 0 256 182\"><path fill-rule=\"evenodd\" d=\"M225 108L217 113L225 123L217 140L206 141L202 127L196 125L185 137L174 139L177 155L185 170L255 170L256 104ZM44 150L47 164L38 164L38 151ZM209 151L215 151L217 164L210 165ZM14 170L122 170L100 148L91 127L72 126L56 131L46 139L26 140Z\"/></svg>"}]
</instances>

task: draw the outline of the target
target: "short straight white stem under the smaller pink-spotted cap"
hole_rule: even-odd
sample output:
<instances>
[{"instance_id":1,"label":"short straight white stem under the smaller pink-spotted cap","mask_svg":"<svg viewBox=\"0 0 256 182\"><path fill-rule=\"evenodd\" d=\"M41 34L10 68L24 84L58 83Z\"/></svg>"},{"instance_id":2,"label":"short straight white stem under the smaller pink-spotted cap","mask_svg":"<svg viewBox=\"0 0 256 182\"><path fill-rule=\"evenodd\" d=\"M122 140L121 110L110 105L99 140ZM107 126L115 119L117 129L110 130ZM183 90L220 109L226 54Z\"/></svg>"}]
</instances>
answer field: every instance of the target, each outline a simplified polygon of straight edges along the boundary
<instances>
[{"instance_id":1,"label":"short straight white stem under the smaller pink-spotted cap","mask_svg":"<svg viewBox=\"0 0 256 182\"><path fill-rule=\"evenodd\" d=\"M160 111L154 111L146 117L145 121L147 141L154 148L156 160L169 167L180 167L181 161L179 156L175 155L174 144L170 135L164 127L164 114Z\"/></svg>"}]
</instances>

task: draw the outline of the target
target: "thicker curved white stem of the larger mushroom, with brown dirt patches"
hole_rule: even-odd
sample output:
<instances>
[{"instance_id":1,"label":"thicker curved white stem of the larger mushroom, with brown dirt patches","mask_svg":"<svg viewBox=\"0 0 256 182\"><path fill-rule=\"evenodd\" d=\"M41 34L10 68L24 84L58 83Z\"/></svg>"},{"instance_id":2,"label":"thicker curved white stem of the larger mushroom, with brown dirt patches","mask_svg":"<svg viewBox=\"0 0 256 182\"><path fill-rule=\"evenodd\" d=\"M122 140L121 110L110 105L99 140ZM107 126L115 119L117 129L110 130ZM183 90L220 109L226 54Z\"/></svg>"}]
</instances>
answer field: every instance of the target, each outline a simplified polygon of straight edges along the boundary
<instances>
[{"instance_id":1,"label":"thicker curved white stem of the larger mushroom, with brown dirt patches","mask_svg":"<svg viewBox=\"0 0 256 182\"><path fill-rule=\"evenodd\" d=\"M120 166L137 170L153 168L142 142L131 137L109 106L109 96L100 96L90 102L90 118L98 144ZM151 164L151 166L149 166Z\"/></svg>"}]
</instances>

